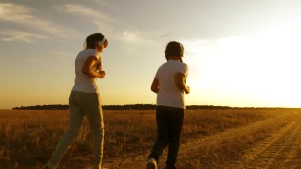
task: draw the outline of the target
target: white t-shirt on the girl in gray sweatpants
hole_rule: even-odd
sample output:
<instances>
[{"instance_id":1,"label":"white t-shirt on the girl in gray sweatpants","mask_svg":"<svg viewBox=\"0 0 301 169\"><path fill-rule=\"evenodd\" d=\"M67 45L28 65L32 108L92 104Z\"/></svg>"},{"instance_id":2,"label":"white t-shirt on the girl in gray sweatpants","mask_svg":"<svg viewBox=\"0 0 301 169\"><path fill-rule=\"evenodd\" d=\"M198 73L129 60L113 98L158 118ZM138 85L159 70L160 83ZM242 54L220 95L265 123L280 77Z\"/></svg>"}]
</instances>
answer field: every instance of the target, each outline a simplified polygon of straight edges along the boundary
<instances>
[{"instance_id":1,"label":"white t-shirt on the girl in gray sweatpants","mask_svg":"<svg viewBox=\"0 0 301 169\"><path fill-rule=\"evenodd\" d=\"M97 93L99 88L96 84L97 78L91 78L82 73L82 68L89 56L100 58L100 52L95 49L85 49L78 53L75 59L75 80L73 91L82 91L86 93Z\"/></svg>"}]
</instances>

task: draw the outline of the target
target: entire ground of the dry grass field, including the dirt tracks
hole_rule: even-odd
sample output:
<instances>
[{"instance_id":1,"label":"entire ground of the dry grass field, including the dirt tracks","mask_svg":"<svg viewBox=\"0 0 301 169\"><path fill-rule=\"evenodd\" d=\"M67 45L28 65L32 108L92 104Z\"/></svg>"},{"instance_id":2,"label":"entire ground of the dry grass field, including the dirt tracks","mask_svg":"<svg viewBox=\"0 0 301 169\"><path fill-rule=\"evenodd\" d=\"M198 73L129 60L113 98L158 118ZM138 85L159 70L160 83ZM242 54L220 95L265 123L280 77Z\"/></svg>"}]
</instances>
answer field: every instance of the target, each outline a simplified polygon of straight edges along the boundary
<instances>
[{"instance_id":1,"label":"entire ground of the dry grass field, including the dirt tracks","mask_svg":"<svg viewBox=\"0 0 301 169\"><path fill-rule=\"evenodd\" d=\"M299 168L300 109L187 110L178 166ZM154 111L104 111L106 169L143 169L156 137ZM68 111L0 110L0 169L40 169L68 127ZM160 159L163 169L166 152ZM82 132L59 169L92 166L92 136Z\"/></svg>"}]
</instances>

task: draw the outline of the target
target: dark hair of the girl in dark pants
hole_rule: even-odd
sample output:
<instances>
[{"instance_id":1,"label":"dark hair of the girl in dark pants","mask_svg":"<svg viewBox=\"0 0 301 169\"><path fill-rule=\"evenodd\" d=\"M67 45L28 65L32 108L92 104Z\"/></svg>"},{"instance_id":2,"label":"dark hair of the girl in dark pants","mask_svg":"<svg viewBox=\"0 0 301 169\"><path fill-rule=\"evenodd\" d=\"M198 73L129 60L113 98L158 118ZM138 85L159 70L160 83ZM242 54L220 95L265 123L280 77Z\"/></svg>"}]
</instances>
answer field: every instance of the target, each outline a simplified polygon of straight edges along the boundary
<instances>
[{"instance_id":1,"label":"dark hair of the girl in dark pants","mask_svg":"<svg viewBox=\"0 0 301 169\"><path fill-rule=\"evenodd\" d=\"M183 50L184 50L184 46L182 43L175 42L175 41L169 42L166 45L166 49L165 49L166 60L168 61L170 56L178 56L179 60L183 62L181 59L181 53L182 53L181 51Z\"/></svg>"}]
</instances>

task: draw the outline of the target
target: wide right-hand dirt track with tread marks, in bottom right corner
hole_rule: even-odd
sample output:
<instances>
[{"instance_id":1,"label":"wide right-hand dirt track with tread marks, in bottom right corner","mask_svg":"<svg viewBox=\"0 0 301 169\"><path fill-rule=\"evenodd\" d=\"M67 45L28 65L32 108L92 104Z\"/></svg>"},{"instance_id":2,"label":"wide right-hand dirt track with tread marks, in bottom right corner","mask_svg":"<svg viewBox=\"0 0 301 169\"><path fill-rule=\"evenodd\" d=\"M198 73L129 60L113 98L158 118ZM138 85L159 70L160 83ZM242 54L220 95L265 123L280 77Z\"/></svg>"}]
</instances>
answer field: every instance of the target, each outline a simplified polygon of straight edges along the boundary
<instances>
[{"instance_id":1,"label":"wide right-hand dirt track with tread marks, in bottom right corner","mask_svg":"<svg viewBox=\"0 0 301 169\"><path fill-rule=\"evenodd\" d=\"M245 155L228 168L283 169L296 168L296 156L301 144L301 115L278 133L246 150Z\"/></svg>"}]
</instances>

